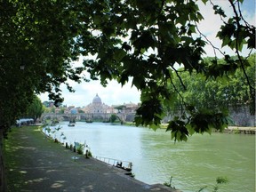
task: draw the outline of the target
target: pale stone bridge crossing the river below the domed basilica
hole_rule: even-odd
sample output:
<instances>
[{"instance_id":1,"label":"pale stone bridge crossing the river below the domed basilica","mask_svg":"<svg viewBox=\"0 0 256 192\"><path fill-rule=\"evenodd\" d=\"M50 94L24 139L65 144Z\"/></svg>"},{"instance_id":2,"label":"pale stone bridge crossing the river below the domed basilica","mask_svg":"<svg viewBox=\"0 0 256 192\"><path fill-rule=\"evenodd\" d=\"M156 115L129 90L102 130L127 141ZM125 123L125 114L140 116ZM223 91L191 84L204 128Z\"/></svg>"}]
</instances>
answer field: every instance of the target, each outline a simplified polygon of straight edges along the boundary
<instances>
[{"instance_id":1,"label":"pale stone bridge crossing the river below the domed basilica","mask_svg":"<svg viewBox=\"0 0 256 192\"><path fill-rule=\"evenodd\" d=\"M79 113L79 114L55 114L55 113L43 113L40 120L45 119L57 119L58 121L101 121L106 122L109 120L113 113ZM135 113L116 113L120 121L132 122L134 120Z\"/></svg>"}]
</instances>

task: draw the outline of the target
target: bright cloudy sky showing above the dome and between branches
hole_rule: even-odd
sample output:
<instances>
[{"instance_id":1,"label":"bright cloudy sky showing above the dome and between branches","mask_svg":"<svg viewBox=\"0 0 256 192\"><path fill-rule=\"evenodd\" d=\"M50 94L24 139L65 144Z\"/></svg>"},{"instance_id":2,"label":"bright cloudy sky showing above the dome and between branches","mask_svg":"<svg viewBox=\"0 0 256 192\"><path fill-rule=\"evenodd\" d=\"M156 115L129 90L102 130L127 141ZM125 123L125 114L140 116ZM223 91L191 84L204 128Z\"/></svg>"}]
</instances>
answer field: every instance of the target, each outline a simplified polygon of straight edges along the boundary
<instances>
[{"instance_id":1,"label":"bright cloudy sky showing above the dome and between branches","mask_svg":"<svg viewBox=\"0 0 256 192\"><path fill-rule=\"evenodd\" d=\"M219 4L226 14L232 11L230 5L228 4L228 0L212 0L212 2ZM221 47L220 41L216 38L216 34L221 25L220 17L214 15L212 5L210 4L207 4L206 6L204 4L199 4L199 8L204 16L204 21L199 25L200 31L207 36L214 46ZM244 0L242 12L245 20L255 26L254 0ZM205 56L214 56L211 46L207 46L204 50L207 52L207 55ZM225 47L221 50L234 55L234 53L231 53L230 50L226 49ZM248 51L244 50L243 53L246 54ZM220 53L217 52L217 55L220 57ZM80 64L81 61L76 63L76 65ZM116 83L116 81L108 82L107 87L103 87L100 84L100 81L91 80L89 83L82 82L81 84L69 82L76 92L68 92L65 85L61 85L60 89L62 90L62 96L64 97L63 104L68 106L84 107L92 103L92 100L96 94L99 95L103 103L109 106L130 102L137 104L140 102L140 91L138 91L136 87L132 86L131 81L129 81L123 87L121 84ZM42 101L48 100L48 94L41 94L39 95L39 98Z\"/></svg>"}]
</instances>

